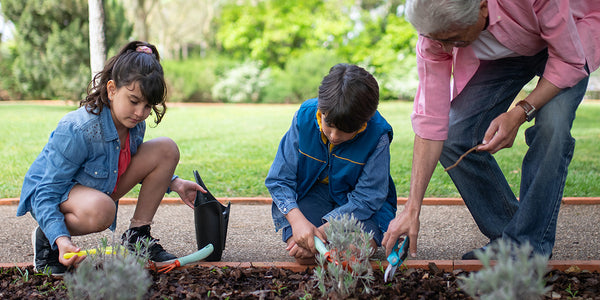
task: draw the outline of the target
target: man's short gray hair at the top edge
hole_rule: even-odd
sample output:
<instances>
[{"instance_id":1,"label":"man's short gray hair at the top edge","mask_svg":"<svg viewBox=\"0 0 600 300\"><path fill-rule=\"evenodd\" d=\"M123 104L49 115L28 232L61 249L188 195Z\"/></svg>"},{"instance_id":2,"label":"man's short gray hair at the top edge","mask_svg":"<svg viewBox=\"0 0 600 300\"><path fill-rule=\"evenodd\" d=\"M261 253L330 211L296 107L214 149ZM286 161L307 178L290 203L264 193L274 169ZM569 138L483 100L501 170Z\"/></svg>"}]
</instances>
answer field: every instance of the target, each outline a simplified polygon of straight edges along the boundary
<instances>
[{"instance_id":1,"label":"man's short gray hair at the top edge","mask_svg":"<svg viewBox=\"0 0 600 300\"><path fill-rule=\"evenodd\" d=\"M405 16L421 34L462 29L477 23L481 0L406 0Z\"/></svg>"}]
</instances>

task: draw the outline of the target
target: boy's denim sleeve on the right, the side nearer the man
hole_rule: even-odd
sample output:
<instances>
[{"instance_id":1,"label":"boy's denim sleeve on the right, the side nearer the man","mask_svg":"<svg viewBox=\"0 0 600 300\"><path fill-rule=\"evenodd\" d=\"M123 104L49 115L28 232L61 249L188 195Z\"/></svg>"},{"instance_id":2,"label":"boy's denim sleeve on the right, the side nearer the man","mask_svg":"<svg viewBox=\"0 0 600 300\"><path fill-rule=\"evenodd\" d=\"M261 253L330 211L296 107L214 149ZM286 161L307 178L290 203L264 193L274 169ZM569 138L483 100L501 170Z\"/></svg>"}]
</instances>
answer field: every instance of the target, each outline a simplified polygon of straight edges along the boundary
<instances>
[{"instance_id":1,"label":"boy's denim sleeve on the right, the side nearer the man","mask_svg":"<svg viewBox=\"0 0 600 300\"><path fill-rule=\"evenodd\" d=\"M371 218L386 201L389 176L390 140L384 134L367 160L354 190L347 194L348 202L323 216L323 219L329 221L344 214L352 214L360 221Z\"/></svg>"}]
</instances>

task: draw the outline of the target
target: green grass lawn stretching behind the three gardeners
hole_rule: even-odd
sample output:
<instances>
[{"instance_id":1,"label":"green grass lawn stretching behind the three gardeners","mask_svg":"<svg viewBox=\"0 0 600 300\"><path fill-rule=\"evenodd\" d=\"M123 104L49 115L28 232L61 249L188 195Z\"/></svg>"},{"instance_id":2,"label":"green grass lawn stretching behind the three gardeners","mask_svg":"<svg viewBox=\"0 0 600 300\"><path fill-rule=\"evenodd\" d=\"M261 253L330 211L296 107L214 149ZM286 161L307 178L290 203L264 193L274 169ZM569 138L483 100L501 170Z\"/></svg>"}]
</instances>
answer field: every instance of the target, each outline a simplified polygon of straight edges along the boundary
<instances>
[{"instance_id":1,"label":"green grass lawn stretching behind the three gardeners","mask_svg":"<svg viewBox=\"0 0 600 300\"><path fill-rule=\"evenodd\" d=\"M58 120L75 108L72 105L0 104L0 198L19 196L29 165L44 147ZM172 106L160 125L148 127L146 137L169 136L175 140L181 152L176 174L193 180L192 171L198 170L217 197L269 196L264 178L297 108L297 104ZM399 197L406 197L409 188L414 137L409 118L411 110L409 102L380 105L380 112L394 128L392 177ZM600 196L597 146L600 103L584 102L577 115L572 130L577 143L564 195ZM521 131L512 148L495 154L515 193L519 190L521 160L526 149ZM139 186L128 196L135 197L138 191ZM459 197L440 165L426 197Z\"/></svg>"}]
</instances>

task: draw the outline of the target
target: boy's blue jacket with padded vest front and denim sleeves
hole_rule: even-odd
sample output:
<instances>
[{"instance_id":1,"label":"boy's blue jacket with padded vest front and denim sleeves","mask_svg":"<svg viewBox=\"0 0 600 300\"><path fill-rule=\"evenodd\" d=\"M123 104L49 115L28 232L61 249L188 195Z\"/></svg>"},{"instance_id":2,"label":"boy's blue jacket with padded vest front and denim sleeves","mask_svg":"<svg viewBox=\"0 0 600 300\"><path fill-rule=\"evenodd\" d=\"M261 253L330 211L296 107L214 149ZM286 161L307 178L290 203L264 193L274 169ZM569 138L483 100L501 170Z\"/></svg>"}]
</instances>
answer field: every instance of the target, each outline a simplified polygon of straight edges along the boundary
<instances>
[{"instance_id":1,"label":"boy's blue jacket with padded vest front and denim sleeves","mask_svg":"<svg viewBox=\"0 0 600 300\"><path fill-rule=\"evenodd\" d=\"M329 152L321 136L317 111L317 98L300 106L265 180L273 198L275 229L289 225L284 215L298 207L296 200L329 168L329 194L339 207L324 219L353 214L358 220L367 220L375 214L381 231L387 231L396 215L397 203L389 174L392 127L376 112L363 131Z\"/></svg>"}]
</instances>

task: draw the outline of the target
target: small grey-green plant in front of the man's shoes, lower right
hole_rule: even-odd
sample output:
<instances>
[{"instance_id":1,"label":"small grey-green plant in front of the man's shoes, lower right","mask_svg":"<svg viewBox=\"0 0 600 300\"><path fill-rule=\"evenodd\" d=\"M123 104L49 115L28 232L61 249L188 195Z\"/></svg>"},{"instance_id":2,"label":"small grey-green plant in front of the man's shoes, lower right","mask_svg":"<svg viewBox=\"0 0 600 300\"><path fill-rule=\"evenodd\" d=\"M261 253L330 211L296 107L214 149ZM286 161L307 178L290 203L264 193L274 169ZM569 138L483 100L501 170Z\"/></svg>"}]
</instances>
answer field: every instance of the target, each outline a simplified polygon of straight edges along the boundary
<instances>
[{"instance_id":1,"label":"small grey-green plant in front of the man's shoes, lower right","mask_svg":"<svg viewBox=\"0 0 600 300\"><path fill-rule=\"evenodd\" d=\"M459 285L478 299L541 299L546 287L548 258L533 254L529 243L515 245L502 239L485 251L476 251L483 268L461 277ZM492 260L496 260L494 266Z\"/></svg>"}]
</instances>

